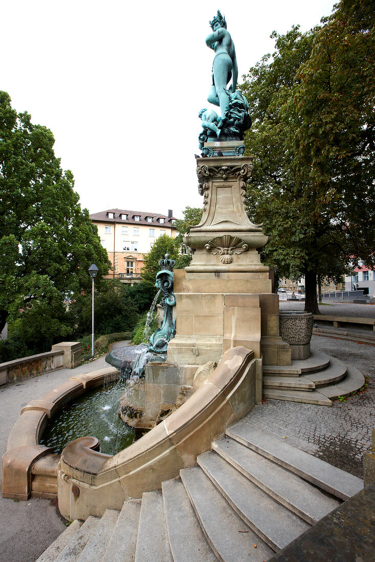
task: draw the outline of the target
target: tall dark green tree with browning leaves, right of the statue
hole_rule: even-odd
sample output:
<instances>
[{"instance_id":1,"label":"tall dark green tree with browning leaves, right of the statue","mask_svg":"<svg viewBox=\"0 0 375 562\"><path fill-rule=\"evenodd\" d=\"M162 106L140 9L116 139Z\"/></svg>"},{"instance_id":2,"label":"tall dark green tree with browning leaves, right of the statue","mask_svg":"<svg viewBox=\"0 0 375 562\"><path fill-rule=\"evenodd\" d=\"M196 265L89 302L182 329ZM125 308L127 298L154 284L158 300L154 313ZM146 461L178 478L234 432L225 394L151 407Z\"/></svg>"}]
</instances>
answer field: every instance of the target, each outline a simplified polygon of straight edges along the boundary
<instances>
[{"instance_id":1,"label":"tall dark green tree with browning leaves, right of the statue","mask_svg":"<svg viewBox=\"0 0 375 562\"><path fill-rule=\"evenodd\" d=\"M317 276L341 277L350 255L373 263L373 4L340 2L321 27L274 33L273 60L263 57L243 87L255 123L249 215L270 235L265 262L305 275L312 312Z\"/></svg>"}]
</instances>

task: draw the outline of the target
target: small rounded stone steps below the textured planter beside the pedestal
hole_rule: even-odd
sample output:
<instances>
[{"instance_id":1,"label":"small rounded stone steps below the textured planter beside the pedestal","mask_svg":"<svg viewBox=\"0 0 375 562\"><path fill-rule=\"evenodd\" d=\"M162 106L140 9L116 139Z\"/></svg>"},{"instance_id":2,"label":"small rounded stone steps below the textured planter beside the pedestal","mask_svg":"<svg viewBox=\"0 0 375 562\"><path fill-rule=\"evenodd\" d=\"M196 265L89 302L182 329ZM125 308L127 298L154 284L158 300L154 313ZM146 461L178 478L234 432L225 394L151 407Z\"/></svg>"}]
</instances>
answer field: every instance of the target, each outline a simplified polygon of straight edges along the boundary
<instances>
[{"instance_id":1,"label":"small rounded stone steps below the textured planter beside the pedestal","mask_svg":"<svg viewBox=\"0 0 375 562\"><path fill-rule=\"evenodd\" d=\"M315 350L309 359L292 361L292 365L263 366L263 396L276 400L332 406L332 400L348 396L363 384L358 369Z\"/></svg>"}]
</instances>

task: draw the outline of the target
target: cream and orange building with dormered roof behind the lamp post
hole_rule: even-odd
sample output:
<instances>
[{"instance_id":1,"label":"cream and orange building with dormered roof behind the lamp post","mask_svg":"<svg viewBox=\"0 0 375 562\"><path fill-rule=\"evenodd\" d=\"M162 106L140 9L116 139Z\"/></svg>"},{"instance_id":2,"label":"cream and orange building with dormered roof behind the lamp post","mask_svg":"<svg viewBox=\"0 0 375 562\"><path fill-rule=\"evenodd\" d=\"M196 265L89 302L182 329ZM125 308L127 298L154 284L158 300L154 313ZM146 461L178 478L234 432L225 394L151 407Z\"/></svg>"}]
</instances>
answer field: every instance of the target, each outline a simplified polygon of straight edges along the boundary
<instances>
[{"instance_id":1,"label":"cream and orange building with dormered roof behind the lamp post","mask_svg":"<svg viewBox=\"0 0 375 562\"><path fill-rule=\"evenodd\" d=\"M171 210L168 215L154 212L109 209L90 215L97 226L100 242L108 253L113 271L107 279L120 279L133 285L141 280L144 255L155 240L167 234L175 238L176 218Z\"/></svg>"}]
</instances>

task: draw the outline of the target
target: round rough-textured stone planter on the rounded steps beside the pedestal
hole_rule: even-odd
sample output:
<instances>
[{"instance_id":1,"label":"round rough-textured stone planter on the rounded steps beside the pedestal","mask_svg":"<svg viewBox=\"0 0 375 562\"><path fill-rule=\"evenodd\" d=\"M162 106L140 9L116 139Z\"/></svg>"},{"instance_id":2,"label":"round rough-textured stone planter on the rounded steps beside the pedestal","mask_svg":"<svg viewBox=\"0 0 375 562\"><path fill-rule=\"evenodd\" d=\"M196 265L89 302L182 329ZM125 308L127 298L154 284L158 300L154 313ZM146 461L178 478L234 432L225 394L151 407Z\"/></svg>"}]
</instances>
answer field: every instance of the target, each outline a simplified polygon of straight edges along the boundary
<instances>
[{"instance_id":1,"label":"round rough-textured stone planter on the rounded steps beside the pedestal","mask_svg":"<svg viewBox=\"0 0 375 562\"><path fill-rule=\"evenodd\" d=\"M310 357L310 340L314 315L300 310L280 311L280 336L289 343L292 359Z\"/></svg>"}]
</instances>

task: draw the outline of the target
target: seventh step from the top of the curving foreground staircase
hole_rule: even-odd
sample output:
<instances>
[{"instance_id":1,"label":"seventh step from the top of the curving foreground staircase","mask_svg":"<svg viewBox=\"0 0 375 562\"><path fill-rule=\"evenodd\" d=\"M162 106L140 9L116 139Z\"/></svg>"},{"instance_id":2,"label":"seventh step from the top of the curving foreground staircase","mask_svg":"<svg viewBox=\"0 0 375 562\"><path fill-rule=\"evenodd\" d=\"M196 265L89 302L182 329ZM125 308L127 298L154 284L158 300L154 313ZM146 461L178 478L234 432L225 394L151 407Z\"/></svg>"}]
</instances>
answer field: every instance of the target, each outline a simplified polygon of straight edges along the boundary
<instances>
[{"instance_id":1,"label":"seventh step from the top of the curving foreground staircase","mask_svg":"<svg viewBox=\"0 0 375 562\"><path fill-rule=\"evenodd\" d=\"M140 500L124 502L101 562L134 561L140 513Z\"/></svg>"}]
</instances>

